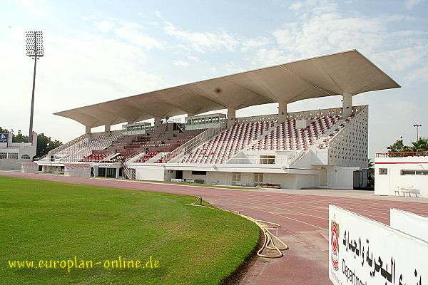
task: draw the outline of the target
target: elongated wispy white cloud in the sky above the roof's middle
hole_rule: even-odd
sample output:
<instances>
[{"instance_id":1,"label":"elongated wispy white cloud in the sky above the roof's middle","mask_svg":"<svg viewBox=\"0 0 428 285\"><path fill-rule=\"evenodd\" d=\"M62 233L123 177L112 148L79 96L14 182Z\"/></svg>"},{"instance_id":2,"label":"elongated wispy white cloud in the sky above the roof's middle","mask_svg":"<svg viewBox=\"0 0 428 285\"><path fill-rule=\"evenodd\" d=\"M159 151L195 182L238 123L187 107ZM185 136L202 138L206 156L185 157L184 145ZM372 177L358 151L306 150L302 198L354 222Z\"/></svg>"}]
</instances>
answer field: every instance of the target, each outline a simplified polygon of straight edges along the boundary
<instances>
[{"instance_id":1,"label":"elongated wispy white cloud in the sky above the roof's middle","mask_svg":"<svg viewBox=\"0 0 428 285\"><path fill-rule=\"evenodd\" d=\"M205 53L219 48L225 48L228 51L234 51L238 46L238 40L234 36L230 36L225 31L218 33L210 32L194 32L180 30L173 24L165 21L163 30L170 36L183 41L185 48Z\"/></svg>"}]
</instances>

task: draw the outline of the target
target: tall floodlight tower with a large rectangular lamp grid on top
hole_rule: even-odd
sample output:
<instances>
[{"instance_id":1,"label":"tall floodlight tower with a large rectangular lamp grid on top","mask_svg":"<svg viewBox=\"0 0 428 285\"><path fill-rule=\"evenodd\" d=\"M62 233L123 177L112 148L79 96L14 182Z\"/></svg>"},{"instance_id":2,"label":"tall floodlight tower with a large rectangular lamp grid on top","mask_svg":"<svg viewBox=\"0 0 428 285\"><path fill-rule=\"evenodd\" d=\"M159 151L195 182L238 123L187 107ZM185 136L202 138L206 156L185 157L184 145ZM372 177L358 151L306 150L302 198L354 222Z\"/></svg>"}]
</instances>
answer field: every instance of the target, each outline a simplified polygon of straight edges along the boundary
<instances>
[{"instance_id":1,"label":"tall floodlight tower with a large rectangular lamp grid on top","mask_svg":"<svg viewBox=\"0 0 428 285\"><path fill-rule=\"evenodd\" d=\"M34 58L33 93L31 94L31 113L29 142L33 142L33 115L34 115L34 89L36 88L36 65L37 60L43 56L43 32L26 31L26 55Z\"/></svg>"}]
</instances>

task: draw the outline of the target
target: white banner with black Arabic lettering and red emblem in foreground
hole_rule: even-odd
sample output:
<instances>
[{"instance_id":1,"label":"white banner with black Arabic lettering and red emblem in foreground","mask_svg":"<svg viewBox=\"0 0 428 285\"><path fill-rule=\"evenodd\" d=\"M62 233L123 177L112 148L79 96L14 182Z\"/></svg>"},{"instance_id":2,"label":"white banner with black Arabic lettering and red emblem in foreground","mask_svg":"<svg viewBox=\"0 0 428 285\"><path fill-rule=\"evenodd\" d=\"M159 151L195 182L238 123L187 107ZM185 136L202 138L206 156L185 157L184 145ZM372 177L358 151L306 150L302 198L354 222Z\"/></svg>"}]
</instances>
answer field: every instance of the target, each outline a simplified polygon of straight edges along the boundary
<instances>
[{"instance_id":1,"label":"white banner with black Arabic lettering and red emblem in foreground","mask_svg":"<svg viewBox=\"0 0 428 285\"><path fill-rule=\"evenodd\" d=\"M334 205L329 206L328 271L336 285L422 285L428 243Z\"/></svg>"}]
</instances>

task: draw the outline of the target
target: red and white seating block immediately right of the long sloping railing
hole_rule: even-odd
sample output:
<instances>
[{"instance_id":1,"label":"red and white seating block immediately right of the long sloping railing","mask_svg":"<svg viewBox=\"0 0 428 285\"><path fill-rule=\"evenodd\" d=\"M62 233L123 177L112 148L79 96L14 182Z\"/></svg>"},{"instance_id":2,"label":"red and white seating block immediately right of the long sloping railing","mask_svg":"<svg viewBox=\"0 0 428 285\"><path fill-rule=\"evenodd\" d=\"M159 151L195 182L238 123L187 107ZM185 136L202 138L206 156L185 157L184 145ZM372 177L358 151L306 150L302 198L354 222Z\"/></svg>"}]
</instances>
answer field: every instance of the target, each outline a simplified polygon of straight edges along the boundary
<instances>
[{"instance_id":1,"label":"red and white seating block immediately right of the long sloping railing","mask_svg":"<svg viewBox=\"0 0 428 285\"><path fill-rule=\"evenodd\" d=\"M182 163L223 163L230 159L250 142L265 133L275 123L251 122L233 125L215 138L198 147L181 160Z\"/></svg>"}]
</instances>

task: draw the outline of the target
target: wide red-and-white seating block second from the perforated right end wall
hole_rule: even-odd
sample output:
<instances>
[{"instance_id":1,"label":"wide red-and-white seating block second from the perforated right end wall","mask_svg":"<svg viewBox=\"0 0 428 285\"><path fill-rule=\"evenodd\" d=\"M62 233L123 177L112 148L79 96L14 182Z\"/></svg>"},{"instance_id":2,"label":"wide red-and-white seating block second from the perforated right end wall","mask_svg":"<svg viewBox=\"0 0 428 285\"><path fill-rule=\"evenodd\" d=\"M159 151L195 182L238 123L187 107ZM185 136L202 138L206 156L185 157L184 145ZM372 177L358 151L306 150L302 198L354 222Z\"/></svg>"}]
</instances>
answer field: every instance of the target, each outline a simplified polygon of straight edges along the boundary
<instances>
[{"instance_id":1,"label":"wide red-and-white seating block second from the perforated right end wall","mask_svg":"<svg viewBox=\"0 0 428 285\"><path fill-rule=\"evenodd\" d=\"M340 119L339 115L315 118L306 128L296 129L296 120L287 120L252 146L252 150L307 150L315 140ZM338 130L337 130L338 131Z\"/></svg>"}]
</instances>

